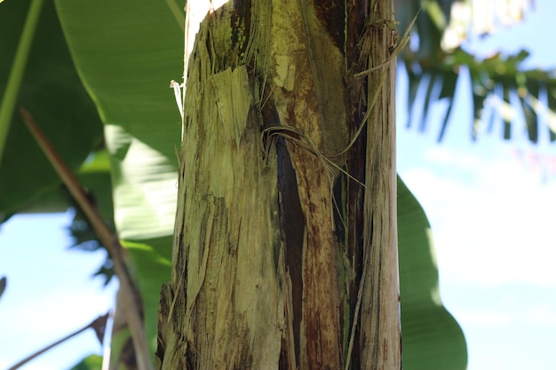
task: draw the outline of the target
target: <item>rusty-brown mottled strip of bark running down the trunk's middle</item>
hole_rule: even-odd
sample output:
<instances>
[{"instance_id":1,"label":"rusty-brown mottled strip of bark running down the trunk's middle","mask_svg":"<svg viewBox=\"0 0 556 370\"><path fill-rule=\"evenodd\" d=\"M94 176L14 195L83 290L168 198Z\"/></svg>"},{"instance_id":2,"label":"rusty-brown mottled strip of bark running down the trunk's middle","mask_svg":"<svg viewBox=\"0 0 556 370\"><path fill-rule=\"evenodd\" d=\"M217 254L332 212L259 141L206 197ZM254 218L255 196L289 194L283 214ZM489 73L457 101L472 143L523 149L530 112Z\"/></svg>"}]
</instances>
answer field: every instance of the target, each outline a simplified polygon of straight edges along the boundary
<instances>
[{"instance_id":1,"label":"rusty-brown mottled strip of bark running down the trunk's middle","mask_svg":"<svg viewBox=\"0 0 556 370\"><path fill-rule=\"evenodd\" d=\"M311 2L299 0L274 3L268 70L279 122L273 130L285 138L305 224L302 282L292 276L292 285L302 288L301 303L293 303L295 315L301 314L294 317L294 325L300 323L299 333L294 329L299 335L298 365L335 369L343 362L344 330L344 283L338 269L342 251L334 232L332 193L338 166L345 162L345 155L335 154L348 142L343 51L317 14L329 7L315 10Z\"/></svg>"}]
</instances>

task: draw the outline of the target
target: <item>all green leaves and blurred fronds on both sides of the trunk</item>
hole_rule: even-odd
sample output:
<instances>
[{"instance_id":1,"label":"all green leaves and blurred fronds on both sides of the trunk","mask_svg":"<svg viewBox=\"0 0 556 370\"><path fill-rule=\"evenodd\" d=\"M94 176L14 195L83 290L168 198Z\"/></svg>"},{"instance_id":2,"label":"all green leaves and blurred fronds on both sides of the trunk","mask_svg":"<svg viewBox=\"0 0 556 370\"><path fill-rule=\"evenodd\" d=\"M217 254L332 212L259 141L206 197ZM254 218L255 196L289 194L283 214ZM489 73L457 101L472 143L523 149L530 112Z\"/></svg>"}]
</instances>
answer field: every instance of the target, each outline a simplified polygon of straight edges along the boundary
<instances>
[{"instance_id":1,"label":"all green leaves and blurred fronds on both sides of the trunk","mask_svg":"<svg viewBox=\"0 0 556 370\"><path fill-rule=\"evenodd\" d=\"M396 9L401 30L421 6L418 1L408 4ZM453 101L457 81L465 78L462 70L466 69L473 83L473 138L484 124L485 102L494 97L500 104L488 113L493 119L500 115L504 119L508 127L504 138L510 137L512 119L501 114L502 108L516 99L527 118L529 138L534 141L538 130L547 130L539 127L536 116L544 91L547 106L555 108L556 84L551 75L521 71L526 51L477 60L459 49L461 35L474 27L473 19L455 19L451 10L471 2L422 4L425 10L416 29L418 46L414 44L403 55L409 74L409 110L417 109L417 91L425 89L423 114L417 124L425 128L427 109L434 101ZM115 225L129 251L128 263L143 296L153 350L158 292L161 283L169 279L171 264L177 190L175 150L180 128L168 85L171 79L178 80L183 70L182 6L172 0L57 0L44 4L42 0L12 0L0 5L0 51L13 57L0 59L0 117L4 117L0 135L5 132L0 140L5 143L0 146L0 220L17 212L60 211L72 206L60 179L16 113L17 106L25 106L89 189L107 222ZM28 17L32 9L39 12L36 21ZM520 8L517 13L521 12ZM23 28L32 30L33 40L13 36L20 35ZM478 29L488 31L484 26ZM450 39L454 32L459 38ZM13 87L8 83L10 76L21 68L14 64L14 57L25 49L29 51L25 73ZM10 99L16 104L4 104ZM439 139L449 114L450 108ZM556 137L552 134L551 138ZM428 222L402 183L399 191L404 367L463 369L465 339L441 305ZM92 237L83 234L87 228L79 213L76 215L72 225L76 243L91 247L87 240ZM111 276L109 261L99 272Z\"/></svg>"}]
</instances>

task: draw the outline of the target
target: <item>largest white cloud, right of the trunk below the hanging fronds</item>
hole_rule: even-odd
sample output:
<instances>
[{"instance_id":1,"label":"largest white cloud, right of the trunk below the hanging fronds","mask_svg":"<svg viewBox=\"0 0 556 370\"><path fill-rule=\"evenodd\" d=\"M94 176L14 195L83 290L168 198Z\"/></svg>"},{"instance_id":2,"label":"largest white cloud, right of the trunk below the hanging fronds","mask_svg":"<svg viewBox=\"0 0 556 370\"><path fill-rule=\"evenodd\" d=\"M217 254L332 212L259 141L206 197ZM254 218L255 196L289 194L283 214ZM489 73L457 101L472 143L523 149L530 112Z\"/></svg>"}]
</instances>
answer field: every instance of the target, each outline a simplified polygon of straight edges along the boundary
<instances>
[{"instance_id":1,"label":"largest white cloud, right of the trunk below the hanging fronds","mask_svg":"<svg viewBox=\"0 0 556 370\"><path fill-rule=\"evenodd\" d=\"M490 157L433 146L422 157L402 177L431 221L443 279L556 286L556 185L507 150Z\"/></svg>"}]
</instances>

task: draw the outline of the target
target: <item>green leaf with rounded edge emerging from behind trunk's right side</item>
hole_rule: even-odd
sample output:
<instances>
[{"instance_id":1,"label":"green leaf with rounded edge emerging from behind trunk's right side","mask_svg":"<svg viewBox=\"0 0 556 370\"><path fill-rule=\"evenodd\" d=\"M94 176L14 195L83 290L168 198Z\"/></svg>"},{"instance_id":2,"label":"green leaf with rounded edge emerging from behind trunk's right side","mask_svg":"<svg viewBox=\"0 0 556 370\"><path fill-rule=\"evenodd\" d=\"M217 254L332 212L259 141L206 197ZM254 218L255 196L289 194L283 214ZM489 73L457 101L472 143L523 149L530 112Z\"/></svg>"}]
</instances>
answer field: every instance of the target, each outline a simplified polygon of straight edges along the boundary
<instances>
[{"instance_id":1,"label":"green leaf with rounded edge emerging from behind trunk's right side","mask_svg":"<svg viewBox=\"0 0 556 370\"><path fill-rule=\"evenodd\" d=\"M465 370L462 329L441 303L431 226L398 177L401 352L405 370Z\"/></svg>"}]
</instances>

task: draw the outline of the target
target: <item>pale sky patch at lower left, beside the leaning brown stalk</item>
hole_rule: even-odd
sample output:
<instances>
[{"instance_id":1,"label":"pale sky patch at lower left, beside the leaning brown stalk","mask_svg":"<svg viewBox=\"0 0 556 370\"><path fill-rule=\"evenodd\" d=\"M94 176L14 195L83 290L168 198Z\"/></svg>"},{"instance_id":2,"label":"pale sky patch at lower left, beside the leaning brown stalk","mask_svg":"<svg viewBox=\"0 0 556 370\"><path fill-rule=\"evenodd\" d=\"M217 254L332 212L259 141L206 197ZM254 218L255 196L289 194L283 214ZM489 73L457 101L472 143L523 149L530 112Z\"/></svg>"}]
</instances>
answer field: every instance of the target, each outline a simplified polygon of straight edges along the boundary
<instances>
[{"instance_id":1,"label":"pale sky patch at lower left, beside the leaning brown stalk","mask_svg":"<svg viewBox=\"0 0 556 370\"><path fill-rule=\"evenodd\" d=\"M115 285L91 279L104 252L68 251L70 212L14 216L0 229L0 275L8 285L0 298L0 368L89 324L113 305ZM88 330L22 367L60 370L93 352L99 341Z\"/></svg>"}]
</instances>

